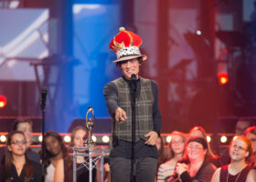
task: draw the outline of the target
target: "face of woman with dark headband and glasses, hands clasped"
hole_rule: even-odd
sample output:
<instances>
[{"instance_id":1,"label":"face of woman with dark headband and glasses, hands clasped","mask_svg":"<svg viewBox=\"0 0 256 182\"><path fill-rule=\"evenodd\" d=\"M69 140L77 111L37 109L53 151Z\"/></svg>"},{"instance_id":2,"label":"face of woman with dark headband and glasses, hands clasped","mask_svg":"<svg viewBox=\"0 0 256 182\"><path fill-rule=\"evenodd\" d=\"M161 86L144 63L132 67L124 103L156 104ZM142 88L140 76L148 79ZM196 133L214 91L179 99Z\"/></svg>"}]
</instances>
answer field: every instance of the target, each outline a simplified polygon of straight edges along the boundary
<instances>
[{"instance_id":1,"label":"face of woman with dark headband and glasses, hands clasped","mask_svg":"<svg viewBox=\"0 0 256 182\"><path fill-rule=\"evenodd\" d=\"M189 160L204 160L207 154L207 150L204 149L203 145L198 142L189 142L187 144L187 157Z\"/></svg>"}]
</instances>

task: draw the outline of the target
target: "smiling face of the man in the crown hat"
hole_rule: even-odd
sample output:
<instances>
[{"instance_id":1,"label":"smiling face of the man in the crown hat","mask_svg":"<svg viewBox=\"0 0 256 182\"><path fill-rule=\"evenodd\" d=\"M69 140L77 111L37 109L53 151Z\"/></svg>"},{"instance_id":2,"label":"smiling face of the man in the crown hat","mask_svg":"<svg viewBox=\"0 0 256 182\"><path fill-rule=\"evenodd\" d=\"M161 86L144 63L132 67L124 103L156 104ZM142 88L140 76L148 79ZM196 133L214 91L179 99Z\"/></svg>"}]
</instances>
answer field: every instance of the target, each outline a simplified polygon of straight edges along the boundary
<instances>
[{"instance_id":1,"label":"smiling face of the man in the crown hat","mask_svg":"<svg viewBox=\"0 0 256 182\"><path fill-rule=\"evenodd\" d=\"M131 80L131 76L135 74L135 76L139 77L139 71L140 71L140 63L138 58L129 59L122 62L121 70L123 72L123 76L125 76L126 79Z\"/></svg>"}]
</instances>

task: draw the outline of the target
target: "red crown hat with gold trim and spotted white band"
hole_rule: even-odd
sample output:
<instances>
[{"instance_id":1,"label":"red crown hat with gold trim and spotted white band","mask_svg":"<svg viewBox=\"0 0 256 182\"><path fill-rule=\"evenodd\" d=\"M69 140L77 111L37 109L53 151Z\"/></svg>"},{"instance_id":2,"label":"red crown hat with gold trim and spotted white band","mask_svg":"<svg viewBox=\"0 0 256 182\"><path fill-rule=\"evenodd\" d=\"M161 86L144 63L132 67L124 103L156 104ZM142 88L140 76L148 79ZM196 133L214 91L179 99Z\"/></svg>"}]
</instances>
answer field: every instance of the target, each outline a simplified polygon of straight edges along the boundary
<instances>
[{"instance_id":1,"label":"red crown hat with gold trim and spotted white band","mask_svg":"<svg viewBox=\"0 0 256 182\"><path fill-rule=\"evenodd\" d=\"M144 61L146 59L145 55L140 52L140 45L142 45L143 40L139 35L133 32L125 30L124 27L119 28L119 33L112 38L110 48L115 52L117 60L113 63L142 57Z\"/></svg>"}]
</instances>

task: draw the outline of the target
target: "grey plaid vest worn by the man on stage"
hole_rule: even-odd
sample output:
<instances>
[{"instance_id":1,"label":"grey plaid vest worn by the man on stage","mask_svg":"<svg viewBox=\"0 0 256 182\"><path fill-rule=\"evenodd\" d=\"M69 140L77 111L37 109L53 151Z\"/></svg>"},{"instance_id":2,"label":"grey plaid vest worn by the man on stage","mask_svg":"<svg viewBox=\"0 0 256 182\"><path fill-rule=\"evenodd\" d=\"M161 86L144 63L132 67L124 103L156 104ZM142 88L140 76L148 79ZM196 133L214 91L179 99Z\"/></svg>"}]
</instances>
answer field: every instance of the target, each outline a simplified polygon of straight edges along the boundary
<instances>
[{"instance_id":1,"label":"grey plaid vest worn by the man on stage","mask_svg":"<svg viewBox=\"0 0 256 182\"><path fill-rule=\"evenodd\" d=\"M152 93L151 81L140 77L141 91L136 98L135 105L135 142L140 139L147 140L144 136L149 131L153 131L153 103L154 96ZM132 142L132 102L131 91L127 82L120 77L112 83L117 87L118 106L126 112L127 119L123 123L116 122L113 118L112 137Z\"/></svg>"}]
</instances>

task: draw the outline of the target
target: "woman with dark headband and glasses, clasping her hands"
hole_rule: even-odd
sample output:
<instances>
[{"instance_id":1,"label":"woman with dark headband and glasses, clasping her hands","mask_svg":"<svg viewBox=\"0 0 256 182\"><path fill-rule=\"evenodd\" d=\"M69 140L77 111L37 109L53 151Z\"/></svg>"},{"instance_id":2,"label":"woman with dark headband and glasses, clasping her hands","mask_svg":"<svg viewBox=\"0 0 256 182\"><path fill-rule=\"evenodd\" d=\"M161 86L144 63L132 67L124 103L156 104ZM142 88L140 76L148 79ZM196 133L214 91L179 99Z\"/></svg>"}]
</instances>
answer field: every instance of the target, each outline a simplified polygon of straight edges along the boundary
<instances>
[{"instance_id":1,"label":"woman with dark headband and glasses, clasping her hands","mask_svg":"<svg viewBox=\"0 0 256 182\"><path fill-rule=\"evenodd\" d=\"M210 181L216 167L207 161L208 142L203 137L191 137L187 141L186 149L187 163L176 164L176 174L168 181Z\"/></svg>"}]
</instances>

